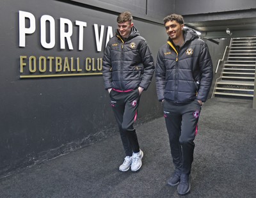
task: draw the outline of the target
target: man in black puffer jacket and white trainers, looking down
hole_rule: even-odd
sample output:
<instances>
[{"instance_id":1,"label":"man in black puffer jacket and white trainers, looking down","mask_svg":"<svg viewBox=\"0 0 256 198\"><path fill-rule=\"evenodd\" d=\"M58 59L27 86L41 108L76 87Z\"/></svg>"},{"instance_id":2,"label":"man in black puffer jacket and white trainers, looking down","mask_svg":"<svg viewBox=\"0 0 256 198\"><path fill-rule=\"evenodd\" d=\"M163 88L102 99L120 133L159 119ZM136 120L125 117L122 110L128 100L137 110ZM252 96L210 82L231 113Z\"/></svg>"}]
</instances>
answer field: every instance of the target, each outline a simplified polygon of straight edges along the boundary
<instances>
[{"instance_id":1,"label":"man in black puffer jacket and white trainers, looking down","mask_svg":"<svg viewBox=\"0 0 256 198\"><path fill-rule=\"evenodd\" d=\"M103 78L125 150L120 171L138 171L143 151L133 127L140 95L154 74L154 60L145 39L133 26L132 15L125 11L117 17L116 35L108 42L103 56Z\"/></svg>"}]
</instances>

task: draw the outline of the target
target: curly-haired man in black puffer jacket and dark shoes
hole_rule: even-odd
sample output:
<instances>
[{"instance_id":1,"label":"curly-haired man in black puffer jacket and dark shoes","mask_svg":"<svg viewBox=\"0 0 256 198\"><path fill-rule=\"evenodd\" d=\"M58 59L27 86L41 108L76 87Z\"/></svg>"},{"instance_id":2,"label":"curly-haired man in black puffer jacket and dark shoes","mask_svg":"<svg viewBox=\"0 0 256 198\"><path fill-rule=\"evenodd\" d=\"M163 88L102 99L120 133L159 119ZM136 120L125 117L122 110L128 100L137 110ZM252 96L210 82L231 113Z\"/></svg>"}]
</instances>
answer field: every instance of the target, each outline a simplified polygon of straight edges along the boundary
<instances>
[{"instance_id":1,"label":"curly-haired man in black puffer jacket and dark shoes","mask_svg":"<svg viewBox=\"0 0 256 198\"><path fill-rule=\"evenodd\" d=\"M184 29L181 15L168 15L164 26L169 38L157 55L156 89L175 165L168 184L179 185L178 193L184 195L190 190L194 139L212 84L212 61L206 43L192 29Z\"/></svg>"}]
</instances>

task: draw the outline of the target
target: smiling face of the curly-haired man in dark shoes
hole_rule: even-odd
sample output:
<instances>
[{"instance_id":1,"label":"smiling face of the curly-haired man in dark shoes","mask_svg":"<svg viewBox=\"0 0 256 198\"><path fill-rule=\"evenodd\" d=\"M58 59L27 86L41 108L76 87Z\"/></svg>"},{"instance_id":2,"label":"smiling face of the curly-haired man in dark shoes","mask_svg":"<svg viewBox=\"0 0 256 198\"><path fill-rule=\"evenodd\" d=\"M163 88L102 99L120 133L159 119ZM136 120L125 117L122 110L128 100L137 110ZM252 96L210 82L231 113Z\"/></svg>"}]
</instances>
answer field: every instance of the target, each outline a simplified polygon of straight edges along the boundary
<instances>
[{"instance_id":1,"label":"smiling face of the curly-haired man in dark shoes","mask_svg":"<svg viewBox=\"0 0 256 198\"><path fill-rule=\"evenodd\" d=\"M170 39L173 41L183 39L182 29L184 24L179 24L176 20L169 20L164 26Z\"/></svg>"}]
</instances>

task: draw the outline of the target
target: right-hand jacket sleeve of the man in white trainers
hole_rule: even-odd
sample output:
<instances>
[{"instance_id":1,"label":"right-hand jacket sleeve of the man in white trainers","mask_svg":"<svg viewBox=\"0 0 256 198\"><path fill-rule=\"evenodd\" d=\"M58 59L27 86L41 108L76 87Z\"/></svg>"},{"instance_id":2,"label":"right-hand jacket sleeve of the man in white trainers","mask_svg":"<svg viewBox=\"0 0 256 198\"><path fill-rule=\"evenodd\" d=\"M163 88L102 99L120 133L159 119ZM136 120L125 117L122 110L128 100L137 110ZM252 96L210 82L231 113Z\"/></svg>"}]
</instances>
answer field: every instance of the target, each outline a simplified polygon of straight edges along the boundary
<instances>
[{"instance_id":1,"label":"right-hand jacket sleeve of the man in white trainers","mask_svg":"<svg viewBox=\"0 0 256 198\"><path fill-rule=\"evenodd\" d=\"M155 71L154 58L147 45L144 41L140 47L141 62L143 63L143 75L140 82L140 87L147 90Z\"/></svg>"}]
</instances>

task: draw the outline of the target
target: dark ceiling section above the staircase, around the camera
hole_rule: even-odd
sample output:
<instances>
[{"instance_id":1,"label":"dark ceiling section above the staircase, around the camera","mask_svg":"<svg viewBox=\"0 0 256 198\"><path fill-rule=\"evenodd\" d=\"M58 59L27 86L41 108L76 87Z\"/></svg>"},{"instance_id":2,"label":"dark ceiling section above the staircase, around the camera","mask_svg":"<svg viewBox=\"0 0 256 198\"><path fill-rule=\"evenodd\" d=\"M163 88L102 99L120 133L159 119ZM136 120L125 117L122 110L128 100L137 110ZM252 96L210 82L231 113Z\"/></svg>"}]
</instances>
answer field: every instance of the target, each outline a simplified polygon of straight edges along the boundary
<instances>
[{"instance_id":1,"label":"dark ceiling section above the staircase, around the camera","mask_svg":"<svg viewBox=\"0 0 256 198\"><path fill-rule=\"evenodd\" d=\"M202 33L205 38L256 36L256 9L184 15L185 24ZM232 35L226 33L230 29Z\"/></svg>"}]
</instances>

